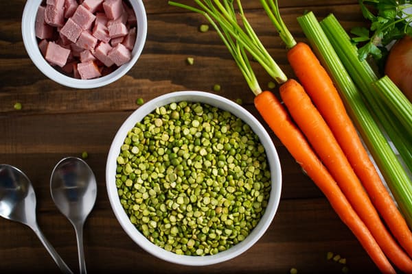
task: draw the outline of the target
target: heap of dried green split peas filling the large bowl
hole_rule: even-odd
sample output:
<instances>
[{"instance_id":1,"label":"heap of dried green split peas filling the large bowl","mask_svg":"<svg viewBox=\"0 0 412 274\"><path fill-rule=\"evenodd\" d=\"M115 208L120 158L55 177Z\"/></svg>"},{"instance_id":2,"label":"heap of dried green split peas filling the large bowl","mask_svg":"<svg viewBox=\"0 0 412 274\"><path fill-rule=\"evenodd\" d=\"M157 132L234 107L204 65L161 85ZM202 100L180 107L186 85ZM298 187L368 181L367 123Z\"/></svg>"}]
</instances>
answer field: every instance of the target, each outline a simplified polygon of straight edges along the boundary
<instances>
[{"instance_id":1,"label":"heap of dried green split peas filling the large bowl","mask_svg":"<svg viewBox=\"0 0 412 274\"><path fill-rule=\"evenodd\" d=\"M181 101L130 129L116 185L130 221L167 251L207 256L242 242L271 190L264 147L230 112Z\"/></svg>"}]
</instances>

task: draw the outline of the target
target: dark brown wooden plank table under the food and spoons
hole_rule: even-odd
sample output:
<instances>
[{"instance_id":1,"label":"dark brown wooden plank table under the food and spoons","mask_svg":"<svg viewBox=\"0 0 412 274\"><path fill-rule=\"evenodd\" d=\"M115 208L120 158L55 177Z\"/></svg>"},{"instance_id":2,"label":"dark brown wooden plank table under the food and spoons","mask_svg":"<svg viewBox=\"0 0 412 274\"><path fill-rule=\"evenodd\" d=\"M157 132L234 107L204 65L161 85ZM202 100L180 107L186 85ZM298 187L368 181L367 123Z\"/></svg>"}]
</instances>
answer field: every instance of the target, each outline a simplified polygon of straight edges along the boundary
<instances>
[{"instance_id":1,"label":"dark brown wooden plank table under the food and spoons","mask_svg":"<svg viewBox=\"0 0 412 274\"><path fill-rule=\"evenodd\" d=\"M29 0L30 1L30 0ZM111 140L124 119L139 106L174 90L212 91L243 105L260 118L253 94L216 32L201 33L205 18L171 7L167 1L144 1L148 36L137 64L117 82L78 90L52 82L34 66L21 38L25 1L0 1L0 163L12 164L32 180L38 224L67 264L78 273L73 227L60 214L49 192L54 165L66 156L89 153L98 181L98 199L84 227L84 252L90 273L341 273L343 264L326 259L331 251L347 259L351 273L377 271L328 201L270 132L282 162L279 210L264 236L238 258L204 267L170 264L146 253L122 230L106 194L105 164ZM185 1L189 3L190 1ZM365 21L356 0L279 1L284 21L297 40L305 40L296 17L312 10L333 12L347 29ZM244 1L245 12L262 42L285 73L293 76L286 50L259 1ZM187 57L194 58L188 65ZM270 77L255 72L263 88ZM273 89L277 92L276 89ZM14 110L20 102L22 110ZM0 273L52 273L58 267L25 225L0 219Z\"/></svg>"}]
</instances>

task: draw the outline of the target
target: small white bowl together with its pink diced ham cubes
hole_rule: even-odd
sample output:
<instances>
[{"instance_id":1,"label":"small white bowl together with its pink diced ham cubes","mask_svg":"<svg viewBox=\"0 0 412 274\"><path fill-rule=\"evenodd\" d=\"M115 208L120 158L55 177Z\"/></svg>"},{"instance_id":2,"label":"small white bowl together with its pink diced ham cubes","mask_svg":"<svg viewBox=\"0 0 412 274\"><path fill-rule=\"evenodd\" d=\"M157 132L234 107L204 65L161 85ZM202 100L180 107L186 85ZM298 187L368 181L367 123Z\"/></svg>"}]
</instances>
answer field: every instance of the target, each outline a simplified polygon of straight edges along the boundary
<instances>
[{"instance_id":1,"label":"small white bowl together with its pink diced ham cubes","mask_svg":"<svg viewBox=\"0 0 412 274\"><path fill-rule=\"evenodd\" d=\"M146 42L141 0L30 0L21 21L25 49L49 79L71 88L115 82Z\"/></svg>"}]
</instances>

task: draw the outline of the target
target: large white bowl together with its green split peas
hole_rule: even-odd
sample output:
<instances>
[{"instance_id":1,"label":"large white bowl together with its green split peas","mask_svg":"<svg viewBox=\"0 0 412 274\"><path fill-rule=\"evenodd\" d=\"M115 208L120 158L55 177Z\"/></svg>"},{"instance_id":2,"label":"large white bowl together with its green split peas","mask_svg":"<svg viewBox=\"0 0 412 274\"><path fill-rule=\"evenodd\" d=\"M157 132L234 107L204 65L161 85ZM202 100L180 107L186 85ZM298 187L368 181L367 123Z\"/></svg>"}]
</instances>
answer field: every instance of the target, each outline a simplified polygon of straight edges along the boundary
<instances>
[{"instance_id":1,"label":"large white bowl together with its green split peas","mask_svg":"<svg viewBox=\"0 0 412 274\"><path fill-rule=\"evenodd\" d=\"M266 232L282 171L271 136L241 105L177 91L144 103L119 127L106 188L141 248L203 266L239 256Z\"/></svg>"}]
</instances>

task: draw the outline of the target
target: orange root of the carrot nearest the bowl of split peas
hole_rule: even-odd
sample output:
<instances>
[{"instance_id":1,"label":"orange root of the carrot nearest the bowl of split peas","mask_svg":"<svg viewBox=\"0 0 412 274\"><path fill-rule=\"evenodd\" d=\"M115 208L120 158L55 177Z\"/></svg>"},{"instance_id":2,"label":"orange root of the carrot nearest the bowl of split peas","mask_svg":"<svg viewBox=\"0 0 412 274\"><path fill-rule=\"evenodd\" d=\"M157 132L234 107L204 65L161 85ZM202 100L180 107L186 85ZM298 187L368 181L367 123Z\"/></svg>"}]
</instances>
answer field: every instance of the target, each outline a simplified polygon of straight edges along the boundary
<instances>
[{"instance_id":1,"label":"orange root of the carrot nearest the bowl of split peas","mask_svg":"<svg viewBox=\"0 0 412 274\"><path fill-rule=\"evenodd\" d=\"M269 91L260 93L255 97L255 107L293 158L323 192L336 214L350 228L378 269L382 273L396 273L365 223L356 214L333 177L314 153L304 135L290 120L290 116L275 95Z\"/></svg>"}]
</instances>

